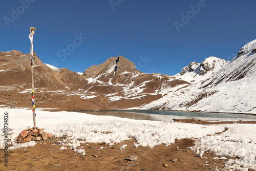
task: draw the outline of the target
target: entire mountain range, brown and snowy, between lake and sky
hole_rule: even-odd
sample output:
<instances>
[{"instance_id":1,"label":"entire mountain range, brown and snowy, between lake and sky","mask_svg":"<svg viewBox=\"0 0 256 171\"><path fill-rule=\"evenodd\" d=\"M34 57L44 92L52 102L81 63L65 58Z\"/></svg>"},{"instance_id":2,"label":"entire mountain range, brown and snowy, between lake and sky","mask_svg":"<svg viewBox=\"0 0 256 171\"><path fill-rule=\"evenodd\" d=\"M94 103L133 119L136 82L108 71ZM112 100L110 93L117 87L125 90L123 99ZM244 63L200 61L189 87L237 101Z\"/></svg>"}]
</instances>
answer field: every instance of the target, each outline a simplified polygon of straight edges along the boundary
<instances>
[{"instance_id":1,"label":"entire mountain range, brown and snowy, between lake and sky","mask_svg":"<svg viewBox=\"0 0 256 171\"><path fill-rule=\"evenodd\" d=\"M256 40L231 61L208 57L174 76L146 74L123 56L83 73L34 66L37 108L55 110L150 109L256 114ZM36 55L36 54L35 54ZM1 106L30 108L29 54L0 52Z\"/></svg>"}]
</instances>

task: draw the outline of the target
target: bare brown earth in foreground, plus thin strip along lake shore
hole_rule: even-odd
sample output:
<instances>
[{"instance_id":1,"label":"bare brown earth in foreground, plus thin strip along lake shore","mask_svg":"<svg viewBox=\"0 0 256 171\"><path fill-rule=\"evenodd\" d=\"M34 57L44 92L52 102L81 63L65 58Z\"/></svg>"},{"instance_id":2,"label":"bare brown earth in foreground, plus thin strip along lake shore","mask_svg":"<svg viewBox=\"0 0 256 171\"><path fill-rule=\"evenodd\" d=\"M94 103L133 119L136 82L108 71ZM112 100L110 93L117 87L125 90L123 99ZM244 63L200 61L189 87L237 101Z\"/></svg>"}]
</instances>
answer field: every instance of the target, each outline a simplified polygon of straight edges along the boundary
<instances>
[{"instance_id":1,"label":"bare brown earth in foreground, plus thin strip along lake shore","mask_svg":"<svg viewBox=\"0 0 256 171\"><path fill-rule=\"evenodd\" d=\"M208 122L194 119L177 119L178 122L199 124L222 124L228 122ZM256 121L239 121L237 123L253 123ZM221 133L218 133L221 134ZM209 135L210 136L210 135ZM134 148L135 139L115 143L109 146L104 143L82 144L86 155L74 153L71 149L59 150L58 141L65 139L52 138L37 141L34 147L21 148L8 152L8 168L0 160L0 170L213 170L223 168L225 160L212 159L215 154L204 153L203 158L195 157L194 151L187 149L194 146L193 139L175 140L170 146L160 145L154 149L148 147ZM52 145L52 144L57 145ZM127 144L123 151L119 147ZM81 147L80 146L80 147ZM103 150L100 147L104 146ZM0 151L4 157L4 151ZM127 156L138 156L136 161L127 161ZM220 157L220 156L219 156ZM227 156L226 156L227 157ZM230 157L227 157L230 158ZM174 159L178 159L174 162ZM207 161L207 163L206 163ZM163 164L167 166L164 167Z\"/></svg>"}]
</instances>

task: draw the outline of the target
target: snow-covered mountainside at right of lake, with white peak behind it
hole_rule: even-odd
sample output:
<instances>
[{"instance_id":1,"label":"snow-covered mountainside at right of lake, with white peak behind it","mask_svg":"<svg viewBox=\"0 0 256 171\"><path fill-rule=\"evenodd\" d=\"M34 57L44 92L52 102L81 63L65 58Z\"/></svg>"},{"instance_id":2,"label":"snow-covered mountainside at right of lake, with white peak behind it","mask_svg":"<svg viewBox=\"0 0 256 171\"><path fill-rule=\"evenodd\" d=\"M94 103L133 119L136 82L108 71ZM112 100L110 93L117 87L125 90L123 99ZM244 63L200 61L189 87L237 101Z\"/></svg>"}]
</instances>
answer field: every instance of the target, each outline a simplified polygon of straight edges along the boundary
<instances>
[{"instance_id":1,"label":"snow-covered mountainside at right of lake, with white peak behind it","mask_svg":"<svg viewBox=\"0 0 256 171\"><path fill-rule=\"evenodd\" d=\"M210 57L211 61L214 59L216 62L215 65L210 62L211 70L204 75L197 72L202 63L197 69L194 67L194 71L187 70L177 74L179 79L190 82L196 79L197 83L175 93L170 92L163 98L144 105L142 109L256 114L255 49L256 40L253 40L241 48L238 56L231 62ZM191 63L190 66L194 65L197 63Z\"/></svg>"}]
</instances>

